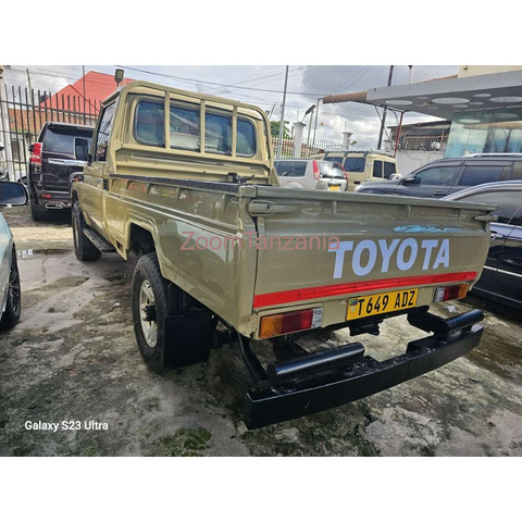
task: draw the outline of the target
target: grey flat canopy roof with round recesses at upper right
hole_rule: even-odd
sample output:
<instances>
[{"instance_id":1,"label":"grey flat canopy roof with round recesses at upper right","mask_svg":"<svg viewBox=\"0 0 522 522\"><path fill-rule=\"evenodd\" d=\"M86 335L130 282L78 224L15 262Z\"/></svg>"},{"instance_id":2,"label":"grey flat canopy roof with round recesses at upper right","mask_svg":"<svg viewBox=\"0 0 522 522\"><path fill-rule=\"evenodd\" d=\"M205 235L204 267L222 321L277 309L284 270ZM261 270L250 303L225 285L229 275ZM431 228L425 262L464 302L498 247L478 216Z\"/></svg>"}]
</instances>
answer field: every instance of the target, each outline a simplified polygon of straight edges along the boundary
<instances>
[{"instance_id":1,"label":"grey flat canopy roof with round recesses at upper right","mask_svg":"<svg viewBox=\"0 0 522 522\"><path fill-rule=\"evenodd\" d=\"M522 71L373 88L366 91L365 100L361 100L361 94L357 95L353 98L359 100L350 99L349 95L338 95L347 99L328 97L332 98L328 102L363 101L451 120L455 112L522 105Z\"/></svg>"}]
</instances>

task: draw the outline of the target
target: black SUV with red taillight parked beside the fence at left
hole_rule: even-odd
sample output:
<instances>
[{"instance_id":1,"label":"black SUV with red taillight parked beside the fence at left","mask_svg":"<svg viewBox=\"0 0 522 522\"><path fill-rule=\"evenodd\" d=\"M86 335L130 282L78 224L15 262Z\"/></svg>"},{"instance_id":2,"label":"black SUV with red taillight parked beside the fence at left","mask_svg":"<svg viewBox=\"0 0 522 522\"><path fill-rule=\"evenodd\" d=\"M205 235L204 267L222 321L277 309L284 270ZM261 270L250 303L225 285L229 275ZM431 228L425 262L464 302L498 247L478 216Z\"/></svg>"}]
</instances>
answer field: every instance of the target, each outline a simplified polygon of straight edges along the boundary
<instances>
[{"instance_id":1,"label":"black SUV with red taillight parked beside the fence at left","mask_svg":"<svg viewBox=\"0 0 522 522\"><path fill-rule=\"evenodd\" d=\"M69 179L88 160L94 127L69 123L46 123L38 141L29 147L30 214L35 221L55 209L71 208Z\"/></svg>"}]
</instances>

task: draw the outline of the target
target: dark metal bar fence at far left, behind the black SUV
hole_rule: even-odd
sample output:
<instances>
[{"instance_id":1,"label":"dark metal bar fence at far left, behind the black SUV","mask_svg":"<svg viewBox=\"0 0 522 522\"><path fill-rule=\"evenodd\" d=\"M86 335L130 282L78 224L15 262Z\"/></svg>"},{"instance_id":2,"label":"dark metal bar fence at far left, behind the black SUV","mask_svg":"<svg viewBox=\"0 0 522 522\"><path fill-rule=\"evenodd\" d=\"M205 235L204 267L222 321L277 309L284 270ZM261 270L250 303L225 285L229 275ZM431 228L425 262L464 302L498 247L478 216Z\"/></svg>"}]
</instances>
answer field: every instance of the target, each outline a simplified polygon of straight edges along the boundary
<instances>
[{"instance_id":1,"label":"dark metal bar fence at far left, behind the black SUV","mask_svg":"<svg viewBox=\"0 0 522 522\"><path fill-rule=\"evenodd\" d=\"M94 125L100 102L78 96L59 96L21 87L0 91L0 175L9 173L11 181L24 181L28 170L30 144L46 122ZM1 149L1 148L0 148Z\"/></svg>"}]
</instances>

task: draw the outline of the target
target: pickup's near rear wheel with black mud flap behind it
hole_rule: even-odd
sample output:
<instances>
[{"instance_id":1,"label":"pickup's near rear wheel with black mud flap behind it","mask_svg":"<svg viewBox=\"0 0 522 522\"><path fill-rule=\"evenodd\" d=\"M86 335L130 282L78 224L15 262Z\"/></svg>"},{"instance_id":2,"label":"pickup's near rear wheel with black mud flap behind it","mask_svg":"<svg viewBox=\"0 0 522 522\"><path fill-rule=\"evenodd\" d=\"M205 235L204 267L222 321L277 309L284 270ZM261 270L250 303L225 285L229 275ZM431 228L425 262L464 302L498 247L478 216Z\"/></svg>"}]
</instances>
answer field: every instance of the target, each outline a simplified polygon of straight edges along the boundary
<instances>
[{"instance_id":1,"label":"pickup's near rear wheel with black mud flap behind it","mask_svg":"<svg viewBox=\"0 0 522 522\"><path fill-rule=\"evenodd\" d=\"M150 370L161 373L209 359L214 316L161 275L154 252L139 259L132 287L136 343Z\"/></svg>"}]
</instances>

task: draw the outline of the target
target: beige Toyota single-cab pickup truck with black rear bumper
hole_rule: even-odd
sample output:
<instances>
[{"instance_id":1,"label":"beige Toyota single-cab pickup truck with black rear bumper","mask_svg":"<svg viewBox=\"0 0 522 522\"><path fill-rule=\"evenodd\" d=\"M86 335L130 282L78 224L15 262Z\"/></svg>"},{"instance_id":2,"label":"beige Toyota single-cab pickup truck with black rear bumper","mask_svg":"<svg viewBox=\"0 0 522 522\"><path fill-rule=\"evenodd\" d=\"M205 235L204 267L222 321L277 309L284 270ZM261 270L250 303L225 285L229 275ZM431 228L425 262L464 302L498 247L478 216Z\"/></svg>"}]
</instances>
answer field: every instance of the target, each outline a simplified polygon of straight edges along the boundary
<instances>
[{"instance_id":1,"label":"beige Toyota single-cab pickup truck with black rear bumper","mask_svg":"<svg viewBox=\"0 0 522 522\"><path fill-rule=\"evenodd\" d=\"M475 347L482 312L440 319L481 275L494 208L277 186L270 125L245 103L145 82L112 95L71 184L77 258L139 257L136 340L157 372L204 361L217 322L252 376L259 427L346 403ZM424 334L386 361L353 341L306 351L312 328L378 334L405 315ZM223 328L220 327L220 332ZM273 339L263 366L256 340Z\"/></svg>"}]
</instances>

